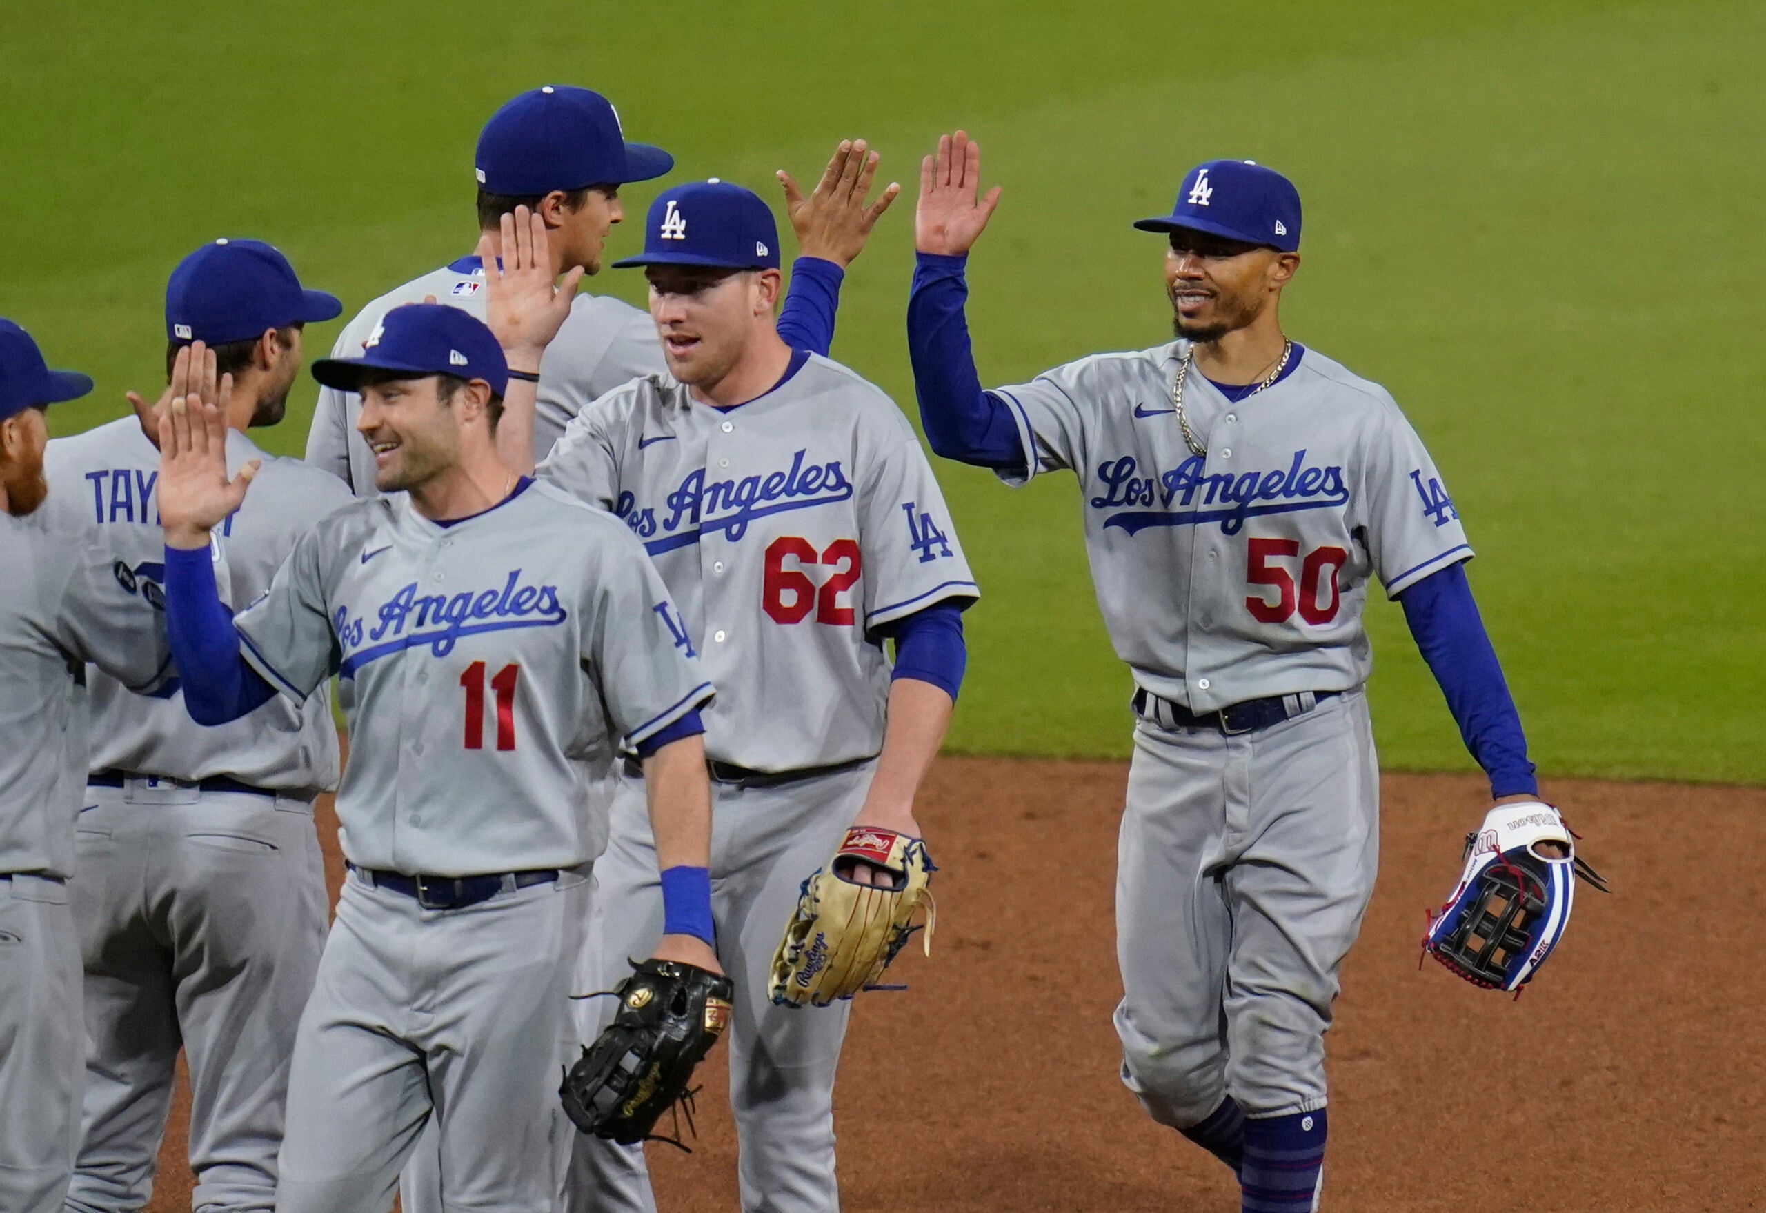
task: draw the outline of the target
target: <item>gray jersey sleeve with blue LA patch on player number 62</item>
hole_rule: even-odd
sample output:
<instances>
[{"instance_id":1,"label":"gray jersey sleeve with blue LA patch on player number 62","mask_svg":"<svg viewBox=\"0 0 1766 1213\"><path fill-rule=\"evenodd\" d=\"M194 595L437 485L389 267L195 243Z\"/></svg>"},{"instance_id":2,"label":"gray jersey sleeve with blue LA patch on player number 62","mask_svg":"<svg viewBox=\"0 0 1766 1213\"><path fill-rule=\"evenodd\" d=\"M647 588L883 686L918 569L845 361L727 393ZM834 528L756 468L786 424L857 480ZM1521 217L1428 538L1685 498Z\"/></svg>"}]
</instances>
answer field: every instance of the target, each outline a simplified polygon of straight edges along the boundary
<instances>
[{"instance_id":1,"label":"gray jersey sleeve with blue LA patch on player number 62","mask_svg":"<svg viewBox=\"0 0 1766 1213\"><path fill-rule=\"evenodd\" d=\"M860 493L865 632L934 602L980 597L945 494L911 431L881 452ZM842 572L858 570L835 576Z\"/></svg>"}]
</instances>

